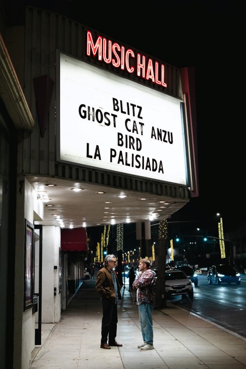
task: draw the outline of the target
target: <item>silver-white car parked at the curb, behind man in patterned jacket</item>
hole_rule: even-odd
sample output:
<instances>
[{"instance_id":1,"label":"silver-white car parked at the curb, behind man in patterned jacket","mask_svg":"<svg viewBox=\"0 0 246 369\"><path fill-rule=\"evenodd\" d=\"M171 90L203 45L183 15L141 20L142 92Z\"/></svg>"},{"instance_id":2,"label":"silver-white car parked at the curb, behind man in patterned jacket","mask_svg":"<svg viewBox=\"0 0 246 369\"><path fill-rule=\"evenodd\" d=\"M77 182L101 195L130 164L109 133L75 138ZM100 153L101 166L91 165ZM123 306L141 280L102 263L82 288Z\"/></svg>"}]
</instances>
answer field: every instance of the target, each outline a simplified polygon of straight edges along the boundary
<instances>
[{"instance_id":1,"label":"silver-white car parked at the curb, behind man in patterned jacket","mask_svg":"<svg viewBox=\"0 0 246 369\"><path fill-rule=\"evenodd\" d=\"M183 270L165 271L165 298L171 296L188 295L193 299L193 285Z\"/></svg>"}]
</instances>

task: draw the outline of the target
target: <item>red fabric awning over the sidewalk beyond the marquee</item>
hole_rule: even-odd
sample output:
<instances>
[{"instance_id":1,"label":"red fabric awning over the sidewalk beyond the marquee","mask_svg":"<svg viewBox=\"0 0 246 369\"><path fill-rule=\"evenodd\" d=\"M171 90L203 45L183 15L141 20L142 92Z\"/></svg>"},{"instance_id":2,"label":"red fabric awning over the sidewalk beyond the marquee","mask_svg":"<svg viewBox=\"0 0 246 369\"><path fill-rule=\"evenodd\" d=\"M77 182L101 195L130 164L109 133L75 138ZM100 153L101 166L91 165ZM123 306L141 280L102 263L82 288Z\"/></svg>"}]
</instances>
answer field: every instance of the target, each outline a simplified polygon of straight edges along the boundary
<instances>
[{"instance_id":1,"label":"red fabric awning over the sidewalk beyond the marquee","mask_svg":"<svg viewBox=\"0 0 246 369\"><path fill-rule=\"evenodd\" d=\"M62 251L87 251L87 234L85 228L61 230Z\"/></svg>"}]
</instances>

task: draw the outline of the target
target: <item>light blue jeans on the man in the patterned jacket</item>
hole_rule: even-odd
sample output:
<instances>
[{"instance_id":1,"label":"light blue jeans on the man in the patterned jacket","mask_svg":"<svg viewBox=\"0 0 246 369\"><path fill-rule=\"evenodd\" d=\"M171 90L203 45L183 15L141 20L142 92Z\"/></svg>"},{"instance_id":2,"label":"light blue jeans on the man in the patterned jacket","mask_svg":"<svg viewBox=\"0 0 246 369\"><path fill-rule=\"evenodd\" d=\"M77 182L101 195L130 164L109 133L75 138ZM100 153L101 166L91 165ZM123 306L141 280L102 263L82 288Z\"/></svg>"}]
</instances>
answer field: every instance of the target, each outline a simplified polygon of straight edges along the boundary
<instances>
[{"instance_id":1,"label":"light blue jeans on the man in the patterned jacket","mask_svg":"<svg viewBox=\"0 0 246 369\"><path fill-rule=\"evenodd\" d=\"M144 342L153 345L152 312L154 304L142 302L138 305L139 322Z\"/></svg>"}]
</instances>

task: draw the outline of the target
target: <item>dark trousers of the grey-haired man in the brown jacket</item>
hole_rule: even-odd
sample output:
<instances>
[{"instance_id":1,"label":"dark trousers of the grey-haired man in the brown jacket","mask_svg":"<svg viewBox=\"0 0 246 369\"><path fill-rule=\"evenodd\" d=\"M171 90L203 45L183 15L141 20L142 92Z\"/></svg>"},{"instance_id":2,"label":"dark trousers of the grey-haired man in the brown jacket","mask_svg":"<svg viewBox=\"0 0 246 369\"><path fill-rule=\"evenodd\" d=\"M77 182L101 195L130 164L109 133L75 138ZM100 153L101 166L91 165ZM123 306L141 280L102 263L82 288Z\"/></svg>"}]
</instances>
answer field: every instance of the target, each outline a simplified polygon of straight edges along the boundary
<instances>
[{"instance_id":1,"label":"dark trousers of the grey-haired man in the brown jacket","mask_svg":"<svg viewBox=\"0 0 246 369\"><path fill-rule=\"evenodd\" d=\"M109 343L113 343L117 333L117 303L112 303L110 299L102 299L101 301L103 305L101 343L107 343L108 337Z\"/></svg>"}]
</instances>

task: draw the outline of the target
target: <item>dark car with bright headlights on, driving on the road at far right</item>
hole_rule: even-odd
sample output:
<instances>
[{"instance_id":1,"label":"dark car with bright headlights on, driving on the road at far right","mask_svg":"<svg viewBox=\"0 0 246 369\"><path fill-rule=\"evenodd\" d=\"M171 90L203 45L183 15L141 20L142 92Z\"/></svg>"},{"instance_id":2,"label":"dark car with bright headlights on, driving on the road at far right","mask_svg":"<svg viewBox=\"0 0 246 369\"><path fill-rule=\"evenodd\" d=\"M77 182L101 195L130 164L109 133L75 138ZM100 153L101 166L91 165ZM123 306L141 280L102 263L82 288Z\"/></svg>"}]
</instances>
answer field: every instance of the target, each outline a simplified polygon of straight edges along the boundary
<instances>
[{"instance_id":1,"label":"dark car with bright headlights on, driving on the road at far right","mask_svg":"<svg viewBox=\"0 0 246 369\"><path fill-rule=\"evenodd\" d=\"M219 264L213 265L208 271L208 283L215 282L218 286L220 283L241 283L240 273L230 265Z\"/></svg>"}]
</instances>

